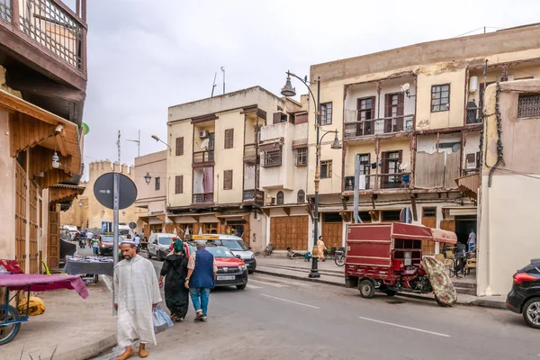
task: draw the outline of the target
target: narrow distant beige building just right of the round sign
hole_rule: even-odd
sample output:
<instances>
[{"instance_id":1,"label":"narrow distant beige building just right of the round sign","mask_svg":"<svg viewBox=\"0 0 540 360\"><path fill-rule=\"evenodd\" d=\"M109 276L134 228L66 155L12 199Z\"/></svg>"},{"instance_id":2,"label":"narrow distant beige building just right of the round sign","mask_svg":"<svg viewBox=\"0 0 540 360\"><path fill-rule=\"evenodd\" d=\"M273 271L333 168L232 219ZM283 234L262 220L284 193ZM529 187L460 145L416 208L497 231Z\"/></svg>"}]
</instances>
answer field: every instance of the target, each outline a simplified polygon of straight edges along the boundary
<instances>
[{"instance_id":1,"label":"narrow distant beige building just right of the round sign","mask_svg":"<svg viewBox=\"0 0 540 360\"><path fill-rule=\"evenodd\" d=\"M167 232L174 231L170 229L174 223L166 216L166 191L171 182L166 169L167 152L164 150L135 157L137 229L142 229L147 238L150 233L161 232L164 227Z\"/></svg>"}]
</instances>

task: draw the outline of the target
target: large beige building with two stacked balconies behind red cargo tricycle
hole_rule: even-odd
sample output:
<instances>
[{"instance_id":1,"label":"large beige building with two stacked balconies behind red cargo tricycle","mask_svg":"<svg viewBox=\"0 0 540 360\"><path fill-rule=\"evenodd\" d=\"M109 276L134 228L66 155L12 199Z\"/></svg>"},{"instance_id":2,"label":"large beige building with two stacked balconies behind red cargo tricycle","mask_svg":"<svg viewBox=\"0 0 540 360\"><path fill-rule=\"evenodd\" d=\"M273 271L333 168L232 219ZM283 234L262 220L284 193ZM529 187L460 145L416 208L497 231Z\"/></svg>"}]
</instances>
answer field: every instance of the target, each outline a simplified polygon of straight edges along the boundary
<instances>
[{"instance_id":1,"label":"large beige building with two stacked balconies behind red cargo tricycle","mask_svg":"<svg viewBox=\"0 0 540 360\"><path fill-rule=\"evenodd\" d=\"M413 223L455 231L466 242L477 228L481 94L496 81L540 74L539 35L540 25L531 25L312 66L311 79L321 81L321 130L340 130L344 143L336 151L325 139L321 149L327 247L344 244L353 220L356 158L363 221L399 221L410 208ZM311 176L315 142L310 131ZM312 179L307 184L311 199Z\"/></svg>"}]
</instances>

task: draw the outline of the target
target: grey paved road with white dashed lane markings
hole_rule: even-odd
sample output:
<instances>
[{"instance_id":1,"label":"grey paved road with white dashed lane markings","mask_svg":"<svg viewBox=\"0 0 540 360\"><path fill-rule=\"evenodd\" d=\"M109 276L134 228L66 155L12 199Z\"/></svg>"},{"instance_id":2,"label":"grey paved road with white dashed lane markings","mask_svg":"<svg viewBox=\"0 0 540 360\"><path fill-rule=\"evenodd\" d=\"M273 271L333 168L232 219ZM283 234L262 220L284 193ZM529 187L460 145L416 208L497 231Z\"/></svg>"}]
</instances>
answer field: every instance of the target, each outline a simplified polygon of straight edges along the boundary
<instances>
[{"instance_id":1,"label":"grey paved road with white dashed lane markings","mask_svg":"<svg viewBox=\"0 0 540 360\"><path fill-rule=\"evenodd\" d=\"M152 260L156 270L161 264ZM209 321L157 335L154 359L531 359L540 332L509 311L250 275L247 289L211 293ZM110 359L111 352L100 359Z\"/></svg>"}]
</instances>

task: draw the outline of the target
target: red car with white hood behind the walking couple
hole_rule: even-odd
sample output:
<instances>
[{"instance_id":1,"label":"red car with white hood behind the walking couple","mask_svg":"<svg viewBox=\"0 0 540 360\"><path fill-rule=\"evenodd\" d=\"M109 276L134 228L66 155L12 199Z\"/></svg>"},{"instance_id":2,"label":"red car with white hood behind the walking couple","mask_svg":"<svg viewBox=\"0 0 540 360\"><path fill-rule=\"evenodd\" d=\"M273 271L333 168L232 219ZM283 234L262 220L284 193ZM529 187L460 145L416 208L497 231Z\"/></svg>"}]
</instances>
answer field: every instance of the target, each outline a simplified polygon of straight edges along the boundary
<instances>
[{"instance_id":1,"label":"red car with white hood behind the walking couple","mask_svg":"<svg viewBox=\"0 0 540 360\"><path fill-rule=\"evenodd\" d=\"M196 251L195 243L188 243L188 254ZM236 257L228 247L206 244L206 249L216 259L218 266L218 275L216 276L216 286L236 286L238 290L244 290L247 285L247 266L238 257Z\"/></svg>"}]
</instances>

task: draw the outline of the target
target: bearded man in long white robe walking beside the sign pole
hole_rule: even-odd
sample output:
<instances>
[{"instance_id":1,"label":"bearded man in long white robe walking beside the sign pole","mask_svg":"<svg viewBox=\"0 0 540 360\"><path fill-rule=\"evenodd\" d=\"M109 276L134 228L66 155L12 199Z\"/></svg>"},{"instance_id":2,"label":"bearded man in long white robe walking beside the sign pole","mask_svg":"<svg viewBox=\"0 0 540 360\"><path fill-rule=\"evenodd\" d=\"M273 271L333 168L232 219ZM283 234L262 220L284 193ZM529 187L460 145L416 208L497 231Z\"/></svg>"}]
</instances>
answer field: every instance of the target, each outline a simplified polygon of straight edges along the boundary
<instances>
[{"instance_id":1,"label":"bearded man in long white robe walking beside the sign pole","mask_svg":"<svg viewBox=\"0 0 540 360\"><path fill-rule=\"evenodd\" d=\"M152 309L161 302L154 266L137 255L133 241L120 244L123 260L114 266L114 308L118 311L118 345L125 347L118 360L135 354L133 345L139 341L139 356L147 357L146 344L156 345Z\"/></svg>"}]
</instances>

